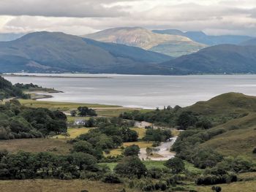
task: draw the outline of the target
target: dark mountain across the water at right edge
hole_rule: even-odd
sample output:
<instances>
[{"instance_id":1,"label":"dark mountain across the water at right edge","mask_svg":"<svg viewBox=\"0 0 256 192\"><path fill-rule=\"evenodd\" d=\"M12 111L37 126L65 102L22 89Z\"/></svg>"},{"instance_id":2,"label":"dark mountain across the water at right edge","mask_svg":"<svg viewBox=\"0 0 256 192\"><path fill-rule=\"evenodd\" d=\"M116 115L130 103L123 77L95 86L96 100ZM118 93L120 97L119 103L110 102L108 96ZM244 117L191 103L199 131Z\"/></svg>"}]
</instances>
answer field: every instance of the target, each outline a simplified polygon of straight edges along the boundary
<instances>
[{"instance_id":1,"label":"dark mountain across the water at right edge","mask_svg":"<svg viewBox=\"0 0 256 192\"><path fill-rule=\"evenodd\" d=\"M256 73L256 46L216 45L160 66L176 74Z\"/></svg>"}]
</instances>

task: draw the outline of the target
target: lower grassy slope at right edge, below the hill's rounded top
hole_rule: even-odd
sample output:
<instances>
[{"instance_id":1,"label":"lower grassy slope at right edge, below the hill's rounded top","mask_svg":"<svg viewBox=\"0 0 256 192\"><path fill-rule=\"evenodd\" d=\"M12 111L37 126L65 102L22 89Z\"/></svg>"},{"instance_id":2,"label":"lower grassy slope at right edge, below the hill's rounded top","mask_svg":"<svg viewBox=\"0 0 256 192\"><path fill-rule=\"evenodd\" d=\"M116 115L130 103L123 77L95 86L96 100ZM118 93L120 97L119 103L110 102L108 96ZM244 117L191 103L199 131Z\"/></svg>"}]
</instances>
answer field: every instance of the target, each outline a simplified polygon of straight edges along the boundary
<instances>
[{"instance_id":1,"label":"lower grassy slope at right edge, below the hill's rounded top","mask_svg":"<svg viewBox=\"0 0 256 192\"><path fill-rule=\"evenodd\" d=\"M256 113L250 113L244 118L237 118L229 122L211 128L222 129L225 133L219 134L202 144L224 155L245 155L256 160L256 154L252 150L256 147Z\"/></svg>"}]
</instances>

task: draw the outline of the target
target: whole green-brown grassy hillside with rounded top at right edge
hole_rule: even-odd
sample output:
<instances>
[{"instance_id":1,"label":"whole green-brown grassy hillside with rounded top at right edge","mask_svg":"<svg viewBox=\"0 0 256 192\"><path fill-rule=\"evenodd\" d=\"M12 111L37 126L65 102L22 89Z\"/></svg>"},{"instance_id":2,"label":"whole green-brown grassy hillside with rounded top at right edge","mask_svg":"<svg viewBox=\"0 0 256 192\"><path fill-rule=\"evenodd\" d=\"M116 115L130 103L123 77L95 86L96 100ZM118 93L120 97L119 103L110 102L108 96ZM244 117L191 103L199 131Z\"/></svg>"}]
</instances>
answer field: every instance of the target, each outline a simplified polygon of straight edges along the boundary
<instances>
[{"instance_id":1,"label":"whole green-brown grassy hillside with rounded top at right edge","mask_svg":"<svg viewBox=\"0 0 256 192\"><path fill-rule=\"evenodd\" d=\"M256 159L252 150L256 147L256 97L242 93L225 93L208 101L200 101L185 108L208 119L219 121L219 126L210 128L217 136L201 144L224 155L246 155ZM226 122L226 123L225 123ZM208 132L208 131L206 131Z\"/></svg>"}]
</instances>

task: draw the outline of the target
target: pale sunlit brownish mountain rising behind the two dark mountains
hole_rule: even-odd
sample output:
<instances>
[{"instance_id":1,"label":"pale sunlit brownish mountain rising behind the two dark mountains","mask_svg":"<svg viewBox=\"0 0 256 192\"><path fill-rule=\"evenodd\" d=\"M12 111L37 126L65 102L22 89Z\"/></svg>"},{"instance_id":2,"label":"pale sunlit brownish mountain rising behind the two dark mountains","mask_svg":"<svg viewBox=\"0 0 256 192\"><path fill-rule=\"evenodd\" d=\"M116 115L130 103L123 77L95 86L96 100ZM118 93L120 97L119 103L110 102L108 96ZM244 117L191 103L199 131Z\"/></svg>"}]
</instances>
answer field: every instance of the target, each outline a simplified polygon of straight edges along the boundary
<instances>
[{"instance_id":1,"label":"pale sunlit brownish mountain rising behind the two dark mountains","mask_svg":"<svg viewBox=\"0 0 256 192\"><path fill-rule=\"evenodd\" d=\"M140 47L157 53L178 57L195 53L206 45L176 34L156 34L146 28L110 28L83 37L100 42Z\"/></svg>"}]
</instances>

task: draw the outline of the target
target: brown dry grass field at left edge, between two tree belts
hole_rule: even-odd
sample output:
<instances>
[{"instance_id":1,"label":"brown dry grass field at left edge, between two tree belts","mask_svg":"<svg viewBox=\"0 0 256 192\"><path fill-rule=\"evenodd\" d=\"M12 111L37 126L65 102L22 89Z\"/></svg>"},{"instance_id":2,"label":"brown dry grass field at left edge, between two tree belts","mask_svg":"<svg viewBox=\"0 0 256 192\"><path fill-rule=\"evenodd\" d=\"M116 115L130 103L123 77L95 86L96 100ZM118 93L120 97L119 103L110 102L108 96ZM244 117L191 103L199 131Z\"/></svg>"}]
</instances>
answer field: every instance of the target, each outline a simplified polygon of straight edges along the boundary
<instances>
[{"instance_id":1,"label":"brown dry grass field at left edge, between two tree belts","mask_svg":"<svg viewBox=\"0 0 256 192\"><path fill-rule=\"evenodd\" d=\"M23 150L31 153L50 151L56 154L67 154L72 145L64 139L12 139L0 140L0 150L8 150L16 153Z\"/></svg>"}]
</instances>

